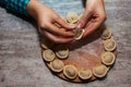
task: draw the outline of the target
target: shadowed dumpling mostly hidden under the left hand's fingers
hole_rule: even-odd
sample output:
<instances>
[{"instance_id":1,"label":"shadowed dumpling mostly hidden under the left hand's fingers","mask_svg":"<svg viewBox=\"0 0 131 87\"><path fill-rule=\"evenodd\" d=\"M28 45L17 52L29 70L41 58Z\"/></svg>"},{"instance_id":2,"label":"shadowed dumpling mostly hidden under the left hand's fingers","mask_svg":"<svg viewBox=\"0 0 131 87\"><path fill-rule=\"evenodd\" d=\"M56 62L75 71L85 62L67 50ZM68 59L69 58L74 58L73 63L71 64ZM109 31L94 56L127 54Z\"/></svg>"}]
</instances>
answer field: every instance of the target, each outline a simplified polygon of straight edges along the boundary
<instances>
[{"instance_id":1,"label":"shadowed dumpling mostly hidden under the left hand's fingers","mask_svg":"<svg viewBox=\"0 0 131 87\"><path fill-rule=\"evenodd\" d=\"M40 46L43 49L50 49L53 45L55 44L52 41L48 40L47 38L41 39Z\"/></svg>"}]
</instances>

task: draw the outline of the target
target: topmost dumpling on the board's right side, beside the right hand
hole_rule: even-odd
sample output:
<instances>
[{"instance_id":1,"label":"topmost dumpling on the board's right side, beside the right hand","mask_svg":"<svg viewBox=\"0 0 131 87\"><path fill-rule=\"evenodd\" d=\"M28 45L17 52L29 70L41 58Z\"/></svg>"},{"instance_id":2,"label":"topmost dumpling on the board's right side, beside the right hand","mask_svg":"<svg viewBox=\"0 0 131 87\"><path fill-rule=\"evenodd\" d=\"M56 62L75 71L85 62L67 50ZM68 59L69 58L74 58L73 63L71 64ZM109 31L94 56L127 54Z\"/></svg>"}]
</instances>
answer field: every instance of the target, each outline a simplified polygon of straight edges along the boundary
<instances>
[{"instance_id":1,"label":"topmost dumpling on the board's right side, beside the right hand","mask_svg":"<svg viewBox=\"0 0 131 87\"><path fill-rule=\"evenodd\" d=\"M111 37L111 35L112 34L111 34L111 30L109 29L109 27L105 26L105 28L103 29L103 33L102 33L100 37L103 39L109 39Z\"/></svg>"}]
</instances>

